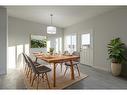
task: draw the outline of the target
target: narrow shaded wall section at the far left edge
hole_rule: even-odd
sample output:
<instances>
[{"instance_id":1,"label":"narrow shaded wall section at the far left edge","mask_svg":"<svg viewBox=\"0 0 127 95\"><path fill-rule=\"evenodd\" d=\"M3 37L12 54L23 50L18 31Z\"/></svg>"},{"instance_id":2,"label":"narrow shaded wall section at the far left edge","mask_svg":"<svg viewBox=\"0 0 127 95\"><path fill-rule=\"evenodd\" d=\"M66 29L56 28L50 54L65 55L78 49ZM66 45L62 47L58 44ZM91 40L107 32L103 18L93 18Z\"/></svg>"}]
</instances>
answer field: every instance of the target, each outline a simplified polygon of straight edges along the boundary
<instances>
[{"instance_id":1,"label":"narrow shaded wall section at the far left edge","mask_svg":"<svg viewBox=\"0 0 127 95\"><path fill-rule=\"evenodd\" d=\"M7 10L0 7L0 74L6 74L7 64Z\"/></svg>"}]
</instances>

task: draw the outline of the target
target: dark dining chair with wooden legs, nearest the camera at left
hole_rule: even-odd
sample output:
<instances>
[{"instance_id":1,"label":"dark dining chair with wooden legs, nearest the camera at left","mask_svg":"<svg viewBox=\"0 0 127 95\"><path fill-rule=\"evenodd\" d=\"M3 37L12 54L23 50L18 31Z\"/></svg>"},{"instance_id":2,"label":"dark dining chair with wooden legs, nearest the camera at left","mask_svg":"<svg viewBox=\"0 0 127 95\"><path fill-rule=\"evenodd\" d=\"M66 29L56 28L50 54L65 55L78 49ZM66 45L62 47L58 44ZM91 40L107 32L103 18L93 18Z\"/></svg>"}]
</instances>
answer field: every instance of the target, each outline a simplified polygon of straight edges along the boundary
<instances>
[{"instance_id":1,"label":"dark dining chair with wooden legs, nearest the camera at left","mask_svg":"<svg viewBox=\"0 0 127 95\"><path fill-rule=\"evenodd\" d=\"M32 72L34 73L34 76L33 76L32 82L31 82L31 86L33 86L33 83L34 83L35 79L37 79L37 89L38 89L39 79L45 77L46 80L47 80L48 87L50 88L50 84L49 84L47 73L50 72L51 69L46 67L46 66L44 66L44 65L36 67L34 65L34 63L32 62L31 58L29 56L27 56L27 58L28 58L28 61L29 61L30 65L31 65Z\"/></svg>"}]
</instances>

